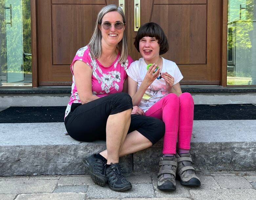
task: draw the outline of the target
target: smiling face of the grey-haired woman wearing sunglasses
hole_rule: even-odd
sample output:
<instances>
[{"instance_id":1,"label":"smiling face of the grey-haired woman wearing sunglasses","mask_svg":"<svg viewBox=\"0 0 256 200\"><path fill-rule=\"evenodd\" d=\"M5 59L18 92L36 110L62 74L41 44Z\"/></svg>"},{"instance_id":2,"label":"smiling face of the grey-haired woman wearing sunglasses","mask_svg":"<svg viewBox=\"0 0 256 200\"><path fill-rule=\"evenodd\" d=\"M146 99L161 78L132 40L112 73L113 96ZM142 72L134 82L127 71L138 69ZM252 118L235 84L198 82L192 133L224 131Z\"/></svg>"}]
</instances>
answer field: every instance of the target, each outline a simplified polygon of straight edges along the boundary
<instances>
[{"instance_id":1,"label":"smiling face of the grey-haired woman wearing sunglasses","mask_svg":"<svg viewBox=\"0 0 256 200\"><path fill-rule=\"evenodd\" d=\"M108 30L103 29L102 25L99 25L99 29L101 30L102 34L102 42L105 42L109 46L116 46L123 38L123 31L125 29L125 25L121 30L115 28L114 23L122 22L123 18L121 14L117 11L111 11L105 14L102 18L101 24L104 22L112 23L111 28Z\"/></svg>"}]
</instances>

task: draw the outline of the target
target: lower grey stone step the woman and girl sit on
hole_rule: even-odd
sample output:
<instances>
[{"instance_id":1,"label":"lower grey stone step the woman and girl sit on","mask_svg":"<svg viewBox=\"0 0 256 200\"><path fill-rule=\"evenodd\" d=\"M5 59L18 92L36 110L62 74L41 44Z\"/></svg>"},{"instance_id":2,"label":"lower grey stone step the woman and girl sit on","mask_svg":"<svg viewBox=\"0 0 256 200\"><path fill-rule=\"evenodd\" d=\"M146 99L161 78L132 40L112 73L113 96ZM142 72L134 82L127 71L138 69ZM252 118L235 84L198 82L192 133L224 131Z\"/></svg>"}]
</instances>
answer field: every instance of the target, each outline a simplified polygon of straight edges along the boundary
<instances>
[{"instance_id":1,"label":"lower grey stone step the woman and girl sit on","mask_svg":"<svg viewBox=\"0 0 256 200\"><path fill-rule=\"evenodd\" d=\"M196 170L256 170L256 120L194 121L191 154ZM106 148L78 142L64 123L0 124L0 176L84 174L82 158ZM121 158L128 172L156 172L162 140Z\"/></svg>"}]
</instances>

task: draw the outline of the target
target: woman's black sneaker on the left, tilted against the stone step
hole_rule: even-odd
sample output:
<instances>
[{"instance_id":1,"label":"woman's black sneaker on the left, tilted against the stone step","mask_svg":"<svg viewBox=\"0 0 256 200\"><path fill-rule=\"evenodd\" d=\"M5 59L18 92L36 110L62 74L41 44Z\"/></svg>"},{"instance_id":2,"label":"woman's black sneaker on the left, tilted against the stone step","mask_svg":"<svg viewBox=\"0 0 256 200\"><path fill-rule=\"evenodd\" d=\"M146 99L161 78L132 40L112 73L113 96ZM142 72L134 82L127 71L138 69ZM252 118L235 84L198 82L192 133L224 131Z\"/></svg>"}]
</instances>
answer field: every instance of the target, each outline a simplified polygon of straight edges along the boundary
<instances>
[{"instance_id":1,"label":"woman's black sneaker on the left, tilted against the stone step","mask_svg":"<svg viewBox=\"0 0 256 200\"><path fill-rule=\"evenodd\" d=\"M101 159L98 159L93 155L83 159L83 164L85 169L90 174L93 182L100 186L104 186L107 182L105 176L105 166L106 162L103 162Z\"/></svg>"}]
</instances>

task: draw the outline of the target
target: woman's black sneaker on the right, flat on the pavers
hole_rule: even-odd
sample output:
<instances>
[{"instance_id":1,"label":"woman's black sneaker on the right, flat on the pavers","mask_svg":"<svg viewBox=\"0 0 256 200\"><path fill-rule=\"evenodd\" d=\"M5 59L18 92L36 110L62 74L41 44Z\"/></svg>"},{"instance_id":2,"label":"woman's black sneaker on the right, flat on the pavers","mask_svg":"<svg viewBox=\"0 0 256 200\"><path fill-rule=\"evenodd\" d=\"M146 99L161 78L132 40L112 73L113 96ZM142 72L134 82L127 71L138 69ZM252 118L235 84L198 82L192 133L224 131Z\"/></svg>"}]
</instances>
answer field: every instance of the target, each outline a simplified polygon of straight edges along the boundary
<instances>
[{"instance_id":1,"label":"woman's black sneaker on the right, flat on the pavers","mask_svg":"<svg viewBox=\"0 0 256 200\"><path fill-rule=\"evenodd\" d=\"M111 190L125 191L132 188L132 184L124 178L119 163L111 163L111 166L106 168L105 173Z\"/></svg>"}]
</instances>

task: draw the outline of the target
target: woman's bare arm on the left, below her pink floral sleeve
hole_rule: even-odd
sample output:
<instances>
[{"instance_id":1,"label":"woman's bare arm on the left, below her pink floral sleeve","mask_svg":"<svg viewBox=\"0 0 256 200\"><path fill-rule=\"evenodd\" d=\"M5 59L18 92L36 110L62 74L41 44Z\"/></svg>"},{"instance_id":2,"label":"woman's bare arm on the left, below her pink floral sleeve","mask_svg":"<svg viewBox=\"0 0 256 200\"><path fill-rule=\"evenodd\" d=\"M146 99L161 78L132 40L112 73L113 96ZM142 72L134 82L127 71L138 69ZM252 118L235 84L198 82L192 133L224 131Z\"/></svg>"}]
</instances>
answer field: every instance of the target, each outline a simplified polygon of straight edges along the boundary
<instances>
[{"instance_id":1,"label":"woman's bare arm on the left, below her pink floral sleeve","mask_svg":"<svg viewBox=\"0 0 256 200\"><path fill-rule=\"evenodd\" d=\"M77 60L73 67L75 85L82 104L98 99L92 93L92 69L83 61Z\"/></svg>"}]
</instances>

